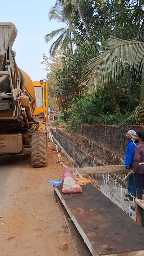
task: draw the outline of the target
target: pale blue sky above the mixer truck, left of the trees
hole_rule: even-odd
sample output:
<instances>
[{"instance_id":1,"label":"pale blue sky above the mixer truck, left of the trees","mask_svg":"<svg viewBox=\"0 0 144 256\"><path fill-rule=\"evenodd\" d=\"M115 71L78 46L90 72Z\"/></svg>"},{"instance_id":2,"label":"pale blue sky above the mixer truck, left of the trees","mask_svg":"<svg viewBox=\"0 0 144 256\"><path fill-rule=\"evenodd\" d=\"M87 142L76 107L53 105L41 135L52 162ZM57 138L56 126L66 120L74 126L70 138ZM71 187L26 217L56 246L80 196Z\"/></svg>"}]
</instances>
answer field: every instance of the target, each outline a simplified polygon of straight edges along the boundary
<instances>
[{"instance_id":1,"label":"pale blue sky above the mixer truck, left of the trees","mask_svg":"<svg viewBox=\"0 0 144 256\"><path fill-rule=\"evenodd\" d=\"M18 30L13 44L17 66L23 69L32 79L39 81L46 78L46 71L41 64L42 55L49 55L50 45L45 43L44 36L53 30L63 27L56 21L49 21L50 8L55 0L0 0L3 12L1 22L12 22ZM5 11L4 11L5 10Z\"/></svg>"}]
</instances>

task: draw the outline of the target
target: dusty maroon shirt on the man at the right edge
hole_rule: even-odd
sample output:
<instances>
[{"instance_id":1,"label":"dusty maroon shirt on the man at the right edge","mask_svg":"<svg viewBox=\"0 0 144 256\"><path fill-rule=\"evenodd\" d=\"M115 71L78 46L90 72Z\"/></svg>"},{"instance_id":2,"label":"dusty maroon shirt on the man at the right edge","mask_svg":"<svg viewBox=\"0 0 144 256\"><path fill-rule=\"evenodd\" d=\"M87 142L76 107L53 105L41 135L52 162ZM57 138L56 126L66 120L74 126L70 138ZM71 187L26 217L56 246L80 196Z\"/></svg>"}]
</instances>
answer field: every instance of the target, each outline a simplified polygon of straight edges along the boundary
<instances>
[{"instance_id":1,"label":"dusty maroon shirt on the man at the right edge","mask_svg":"<svg viewBox=\"0 0 144 256\"><path fill-rule=\"evenodd\" d=\"M139 142L135 146L134 151L134 161L144 162L144 142ZM137 171L138 173L144 173L144 164L139 165Z\"/></svg>"}]
</instances>

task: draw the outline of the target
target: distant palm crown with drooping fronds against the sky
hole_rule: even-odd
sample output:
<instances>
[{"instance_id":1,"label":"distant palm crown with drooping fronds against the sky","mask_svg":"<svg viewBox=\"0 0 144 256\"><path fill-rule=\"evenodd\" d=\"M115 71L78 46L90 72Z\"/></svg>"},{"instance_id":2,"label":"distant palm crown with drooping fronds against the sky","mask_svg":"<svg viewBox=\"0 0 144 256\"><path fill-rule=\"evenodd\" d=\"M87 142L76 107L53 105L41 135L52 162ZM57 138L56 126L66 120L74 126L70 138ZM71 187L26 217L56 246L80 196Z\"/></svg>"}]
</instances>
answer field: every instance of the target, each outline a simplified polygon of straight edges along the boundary
<instances>
[{"instance_id":1,"label":"distant palm crown with drooping fronds against the sky","mask_svg":"<svg viewBox=\"0 0 144 256\"><path fill-rule=\"evenodd\" d=\"M73 54L73 47L72 47L72 33L74 31L74 27L71 23L69 23L68 17L66 14L63 14L64 7L56 7L54 6L49 12L49 18L56 20L57 22L62 22L66 24L66 27L59 28L50 32L49 34L45 35L45 41L48 43L52 40L55 36L59 37L54 41L54 43L50 46L50 55L53 56L55 51L60 48L61 51L71 51ZM70 14L69 14L70 15Z\"/></svg>"}]
</instances>

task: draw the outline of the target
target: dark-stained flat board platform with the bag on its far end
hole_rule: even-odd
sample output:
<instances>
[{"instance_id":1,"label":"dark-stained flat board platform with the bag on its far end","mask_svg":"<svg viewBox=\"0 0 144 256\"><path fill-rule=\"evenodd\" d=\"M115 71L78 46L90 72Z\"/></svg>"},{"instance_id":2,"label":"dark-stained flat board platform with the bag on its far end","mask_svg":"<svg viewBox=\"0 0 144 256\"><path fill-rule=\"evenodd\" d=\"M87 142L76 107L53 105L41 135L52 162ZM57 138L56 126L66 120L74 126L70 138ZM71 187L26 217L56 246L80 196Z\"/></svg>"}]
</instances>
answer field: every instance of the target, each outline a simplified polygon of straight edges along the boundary
<instances>
[{"instance_id":1,"label":"dark-stained flat board platform with the bag on its far end","mask_svg":"<svg viewBox=\"0 0 144 256\"><path fill-rule=\"evenodd\" d=\"M54 190L92 255L144 256L144 229L92 184L80 194Z\"/></svg>"}]
</instances>

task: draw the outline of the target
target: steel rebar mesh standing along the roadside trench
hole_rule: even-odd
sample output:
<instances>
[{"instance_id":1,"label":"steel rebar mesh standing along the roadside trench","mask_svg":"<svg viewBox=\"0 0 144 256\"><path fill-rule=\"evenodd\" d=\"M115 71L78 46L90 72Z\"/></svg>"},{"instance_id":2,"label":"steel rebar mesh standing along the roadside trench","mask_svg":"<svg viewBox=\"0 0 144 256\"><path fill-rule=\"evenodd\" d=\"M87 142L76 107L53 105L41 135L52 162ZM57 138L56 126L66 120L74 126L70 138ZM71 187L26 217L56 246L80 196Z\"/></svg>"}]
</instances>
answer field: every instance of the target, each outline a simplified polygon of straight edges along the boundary
<instances>
[{"instance_id":1,"label":"steel rebar mesh standing along the roadside trench","mask_svg":"<svg viewBox=\"0 0 144 256\"><path fill-rule=\"evenodd\" d=\"M78 167L94 167L113 165L110 158L104 156L103 151L98 148L81 149L74 143L64 138L61 132L51 129L51 134L75 161ZM100 191L113 201L117 206L135 220L135 198L127 192L127 183L123 181L124 174L90 174L91 178L99 184Z\"/></svg>"}]
</instances>

